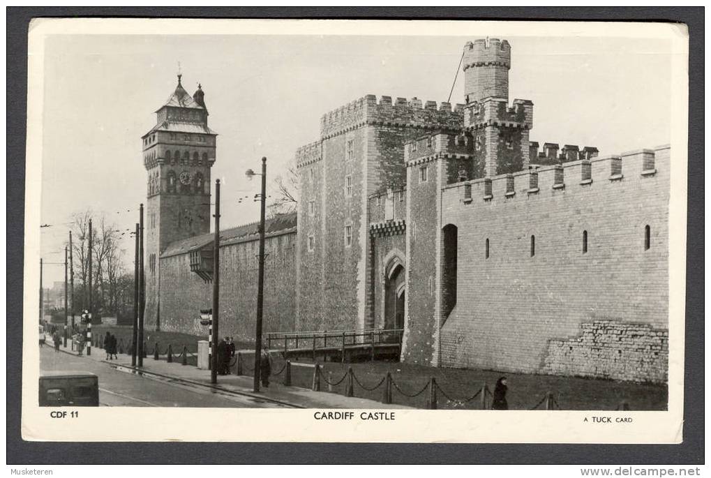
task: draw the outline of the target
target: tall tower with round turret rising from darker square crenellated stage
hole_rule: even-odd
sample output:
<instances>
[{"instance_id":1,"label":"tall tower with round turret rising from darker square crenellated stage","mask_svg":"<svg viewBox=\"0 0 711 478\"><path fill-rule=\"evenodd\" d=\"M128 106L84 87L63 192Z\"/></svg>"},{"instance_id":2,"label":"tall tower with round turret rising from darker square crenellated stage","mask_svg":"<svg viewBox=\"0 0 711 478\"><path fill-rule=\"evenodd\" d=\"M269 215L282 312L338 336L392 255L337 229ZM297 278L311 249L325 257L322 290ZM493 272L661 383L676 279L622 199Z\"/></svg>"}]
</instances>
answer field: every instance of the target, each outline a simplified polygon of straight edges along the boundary
<instances>
[{"instance_id":1,"label":"tall tower with round turret rising from darker square crenellated stage","mask_svg":"<svg viewBox=\"0 0 711 478\"><path fill-rule=\"evenodd\" d=\"M486 177L528 169L533 127L533 102L508 105L511 47L498 38L479 39L464 46L464 127L474 137L476 159Z\"/></svg>"}]
</instances>

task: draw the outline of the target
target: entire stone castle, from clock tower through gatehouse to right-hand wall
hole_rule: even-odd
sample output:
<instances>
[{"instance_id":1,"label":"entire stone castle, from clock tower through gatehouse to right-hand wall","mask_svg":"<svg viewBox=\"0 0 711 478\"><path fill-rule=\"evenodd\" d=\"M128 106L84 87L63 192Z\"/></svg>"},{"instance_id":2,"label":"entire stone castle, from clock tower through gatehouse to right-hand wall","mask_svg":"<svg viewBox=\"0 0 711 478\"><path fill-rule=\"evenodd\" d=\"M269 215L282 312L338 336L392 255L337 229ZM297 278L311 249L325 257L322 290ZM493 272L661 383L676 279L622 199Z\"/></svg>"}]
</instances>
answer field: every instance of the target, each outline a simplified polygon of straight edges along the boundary
<instances>
[{"instance_id":1,"label":"entire stone castle, from clock tower through gatehouse to right-hand wall","mask_svg":"<svg viewBox=\"0 0 711 478\"><path fill-rule=\"evenodd\" d=\"M267 223L265 332L404 329L410 363L666 381L670 149L539 151L510 67L507 41L476 40L464 104L365 95L321 117L296 150L297 213ZM207 117L178 79L144 136L146 324L195 334L210 304ZM240 339L257 238L250 224L220 241L220 331Z\"/></svg>"}]
</instances>

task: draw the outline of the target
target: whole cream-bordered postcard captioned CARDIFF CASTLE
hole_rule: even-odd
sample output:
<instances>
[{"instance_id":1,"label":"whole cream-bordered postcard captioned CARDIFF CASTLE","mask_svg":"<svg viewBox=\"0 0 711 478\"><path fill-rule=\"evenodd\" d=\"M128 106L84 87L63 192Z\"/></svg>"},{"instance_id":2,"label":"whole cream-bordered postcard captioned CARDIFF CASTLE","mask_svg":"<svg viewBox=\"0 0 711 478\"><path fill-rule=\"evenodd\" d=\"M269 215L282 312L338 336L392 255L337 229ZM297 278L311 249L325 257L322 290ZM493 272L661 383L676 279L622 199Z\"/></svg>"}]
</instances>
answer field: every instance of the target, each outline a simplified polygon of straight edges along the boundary
<instances>
[{"instance_id":1,"label":"whole cream-bordered postcard captioned CARDIFF CASTLE","mask_svg":"<svg viewBox=\"0 0 711 478\"><path fill-rule=\"evenodd\" d=\"M26 440L682 440L683 24L29 31Z\"/></svg>"}]
</instances>

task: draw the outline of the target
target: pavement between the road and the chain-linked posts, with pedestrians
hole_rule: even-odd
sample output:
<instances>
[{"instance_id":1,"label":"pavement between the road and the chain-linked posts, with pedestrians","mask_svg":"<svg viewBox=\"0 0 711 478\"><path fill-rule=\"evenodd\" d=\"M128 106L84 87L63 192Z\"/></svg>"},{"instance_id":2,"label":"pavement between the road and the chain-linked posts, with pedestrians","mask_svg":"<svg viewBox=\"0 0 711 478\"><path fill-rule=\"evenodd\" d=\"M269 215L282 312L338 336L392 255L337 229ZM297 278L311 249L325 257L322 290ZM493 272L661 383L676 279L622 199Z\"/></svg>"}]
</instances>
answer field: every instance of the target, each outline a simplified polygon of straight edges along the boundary
<instances>
[{"instance_id":1,"label":"pavement between the road and the chain-linked posts, with pedestrians","mask_svg":"<svg viewBox=\"0 0 711 478\"><path fill-rule=\"evenodd\" d=\"M53 347L53 342L50 337L47 337L46 345L48 347ZM72 341L71 339L68 339L67 347L65 348L60 346L60 351L65 354L77 356L77 352L73 351L72 348ZM80 358L77 357L77 359ZM173 379L181 381L183 386L204 388L205 390L212 391L213 393L222 392L239 394L247 399L250 399L252 403L260 403L260 406L263 406L262 403L266 400L266 403L272 403L273 406L290 406L296 408L410 408L405 405L398 405L395 403L380 403L375 400L368 400L367 398L346 397L336 393L314 392L308 388L284 386L282 383L277 383L277 381L272 381L268 388L261 387L261 391L259 393L255 393L252 388L252 376L218 376L218 383L215 386L210 383L210 371L201 370L196 366L181 365L179 360L168 363L166 360L156 361L152 356L149 356L148 358L143 359L142 368L134 368L131 366L131 356L119 354L118 359L109 361L106 359L105 351L103 349L97 349L96 347L92 347L90 356L86 355L85 349L84 356L82 356L81 359L103 363L109 368L122 371L129 371L133 373L145 372L145 376L141 378L143 380L151 380L151 378L154 378L156 380L170 381ZM281 378L277 378L277 380L281 381ZM240 405L235 404L234 406Z\"/></svg>"}]
</instances>

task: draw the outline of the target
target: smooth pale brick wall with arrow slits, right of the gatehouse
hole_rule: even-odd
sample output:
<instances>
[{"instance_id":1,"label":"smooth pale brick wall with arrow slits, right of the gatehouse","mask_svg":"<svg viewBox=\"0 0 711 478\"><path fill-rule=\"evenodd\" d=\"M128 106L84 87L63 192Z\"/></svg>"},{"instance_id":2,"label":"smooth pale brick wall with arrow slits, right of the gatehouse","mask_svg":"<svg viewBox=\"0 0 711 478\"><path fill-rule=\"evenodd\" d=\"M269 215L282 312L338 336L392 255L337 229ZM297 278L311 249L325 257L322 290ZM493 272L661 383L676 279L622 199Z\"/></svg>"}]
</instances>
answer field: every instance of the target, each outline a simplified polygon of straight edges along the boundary
<instances>
[{"instance_id":1,"label":"smooth pale brick wall with arrow slits, right of the gatehouse","mask_svg":"<svg viewBox=\"0 0 711 478\"><path fill-rule=\"evenodd\" d=\"M651 156L656 172L645 171ZM442 225L457 225L460 240L457 305L441 331L444 366L589 375L576 369L579 361L548 359L556 350L550 341L579 336L581 324L591 320L621 324L626 336L636 334L638 324L668 329L668 147L594 158L592 183L581 181L584 162L563 164L564 187L553 188L561 170L550 166L538 171L537 192L528 191L528 171L513 176L514 196L506 196L506 176L493 179L490 200L483 198L484 181L470 182L471 203L463 201L465 184L445 188ZM619 164L622 175L613 176ZM651 226L649 250L645 225ZM421 258L413 250L408 258L410 264L427 261L427 251ZM614 337L596 334L597 342ZM645 340L639 343L646 346ZM619 349L614 341L606 346ZM645 350L645 363L665 363L663 353ZM629 377L629 369L615 367L601 366L594 376ZM645 367L633 366L634 379L665 380ZM649 370L661 369L655 367Z\"/></svg>"}]
</instances>

